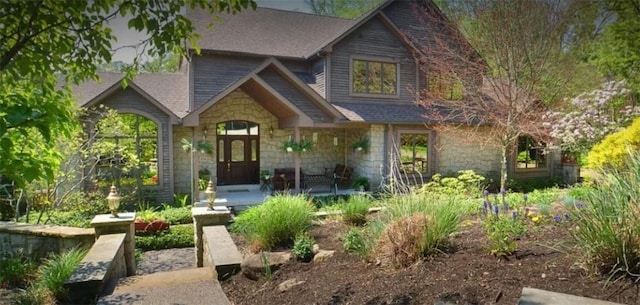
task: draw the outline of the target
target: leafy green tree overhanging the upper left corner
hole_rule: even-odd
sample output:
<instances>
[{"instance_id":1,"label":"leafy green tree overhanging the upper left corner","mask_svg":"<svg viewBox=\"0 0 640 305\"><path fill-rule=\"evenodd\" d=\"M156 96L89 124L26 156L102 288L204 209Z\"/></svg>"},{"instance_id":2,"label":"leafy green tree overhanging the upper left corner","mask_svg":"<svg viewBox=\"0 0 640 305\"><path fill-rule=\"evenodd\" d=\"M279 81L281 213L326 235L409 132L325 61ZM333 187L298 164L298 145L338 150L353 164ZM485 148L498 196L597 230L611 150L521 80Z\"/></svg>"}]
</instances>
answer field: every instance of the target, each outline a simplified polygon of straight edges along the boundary
<instances>
[{"instance_id":1,"label":"leafy green tree overhanging the upper left corner","mask_svg":"<svg viewBox=\"0 0 640 305\"><path fill-rule=\"evenodd\" d=\"M148 34L136 46L139 55L185 56L189 47L199 52L199 36L180 14L183 8L236 13L255 5L253 0L0 3L0 176L20 186L53 178L61 159L56 139L78 127L70 86L97 79L97 66L111 61L116 37L109 21L116 16ZM124 85L139 68L136 57L125 69Z\"/></svg>"}]
</instances>

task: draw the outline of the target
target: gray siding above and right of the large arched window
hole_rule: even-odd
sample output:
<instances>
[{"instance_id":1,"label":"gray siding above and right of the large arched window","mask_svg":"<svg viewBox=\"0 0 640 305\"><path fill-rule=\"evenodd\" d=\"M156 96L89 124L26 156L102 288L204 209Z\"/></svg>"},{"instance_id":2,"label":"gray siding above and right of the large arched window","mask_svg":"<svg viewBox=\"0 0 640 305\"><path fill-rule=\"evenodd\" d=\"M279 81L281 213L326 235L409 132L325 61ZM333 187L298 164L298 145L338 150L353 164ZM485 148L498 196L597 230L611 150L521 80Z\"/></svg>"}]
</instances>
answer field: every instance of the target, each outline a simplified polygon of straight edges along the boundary
<instances>
[{"instance_id":1,"label":"gray siding above and right of the large arched window","mask_svg":"<svg viewBox=\"0 0 640 305\"><path fill-rule=\"evenodd\" d=\"M142 115L156 123L159 127L158 138L158 186L149 186L150 190L157 191L158 202L171 202L173 200L173 190L171 189L171 160L169 134L169 115L160 108L153 105L135 90L127 88L109 96L102 103L105 106L117 110L119 113L134 113ZM146 187L145 187L146 188Z\"/></svg>"}]
</instances>

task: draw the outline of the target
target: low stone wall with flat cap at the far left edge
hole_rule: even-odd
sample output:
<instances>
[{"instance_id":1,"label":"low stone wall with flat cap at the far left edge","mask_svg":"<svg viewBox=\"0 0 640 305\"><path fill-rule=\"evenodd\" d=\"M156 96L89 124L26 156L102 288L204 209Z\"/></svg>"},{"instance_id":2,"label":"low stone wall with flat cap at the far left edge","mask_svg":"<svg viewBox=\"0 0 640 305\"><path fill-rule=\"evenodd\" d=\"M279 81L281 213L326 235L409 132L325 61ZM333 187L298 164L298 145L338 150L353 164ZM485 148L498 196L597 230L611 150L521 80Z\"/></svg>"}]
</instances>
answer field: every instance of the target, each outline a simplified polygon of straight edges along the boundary
<instances>
[{"instance_id":1,"label":"low stone wall with flat cap at the far left edge","mask_svg":"<svg viewBox=\"0 0 640 305\"><path fill-rule=\"evenodd\" d=\"M94 241L93 229L0 222L0 257L44 258Z\"/></svg>"}]
</instances>

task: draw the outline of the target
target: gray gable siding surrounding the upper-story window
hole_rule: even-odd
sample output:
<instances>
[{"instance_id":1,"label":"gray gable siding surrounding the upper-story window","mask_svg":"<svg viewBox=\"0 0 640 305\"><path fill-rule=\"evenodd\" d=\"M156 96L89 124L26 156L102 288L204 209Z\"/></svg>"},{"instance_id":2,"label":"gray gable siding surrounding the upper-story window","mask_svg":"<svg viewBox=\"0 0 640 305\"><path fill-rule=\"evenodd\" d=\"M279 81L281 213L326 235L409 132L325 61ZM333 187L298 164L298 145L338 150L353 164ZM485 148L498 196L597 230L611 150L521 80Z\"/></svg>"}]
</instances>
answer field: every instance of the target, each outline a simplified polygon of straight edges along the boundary
<instances>
[{"instance_id":1,"label":"gray gable siding surrounding the upper-story window","mask_svg":"<svg viewBox=\"0 0 640 305\"><path fill-rule=\"evenodd\" d=\"M350 95L351 59L363 57L388 59L398 62L398 97L381 98ZM416 65L411 52L378 18L373 18L359 29L349 34L333 47L331 54L331 92L332 102L413 102L414 95L409 88L416 87Z\"/></svg>"}]
</instances>

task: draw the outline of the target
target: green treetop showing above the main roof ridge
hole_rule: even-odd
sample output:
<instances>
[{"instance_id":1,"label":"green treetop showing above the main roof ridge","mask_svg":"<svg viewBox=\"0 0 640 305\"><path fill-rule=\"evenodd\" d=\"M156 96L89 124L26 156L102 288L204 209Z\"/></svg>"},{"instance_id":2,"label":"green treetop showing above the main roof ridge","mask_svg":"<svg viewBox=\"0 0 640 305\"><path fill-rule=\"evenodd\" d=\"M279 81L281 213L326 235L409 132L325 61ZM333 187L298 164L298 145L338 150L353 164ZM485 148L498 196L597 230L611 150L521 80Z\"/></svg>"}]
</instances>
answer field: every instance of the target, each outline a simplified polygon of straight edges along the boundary
<instances>
[{"instance_id":1,"label":"green treetop showing above the main roof ridge","mask_svg":"<svg viewBox=\"0 0 640 305\"><path fill-rule=\"evenodd\" d=\"M305 0L316 15L355 19L375 8L382 0Z\"/></svg>"}]
</instances>

